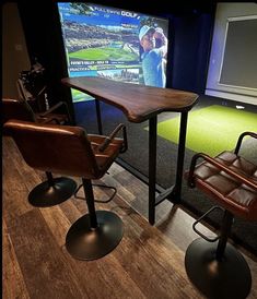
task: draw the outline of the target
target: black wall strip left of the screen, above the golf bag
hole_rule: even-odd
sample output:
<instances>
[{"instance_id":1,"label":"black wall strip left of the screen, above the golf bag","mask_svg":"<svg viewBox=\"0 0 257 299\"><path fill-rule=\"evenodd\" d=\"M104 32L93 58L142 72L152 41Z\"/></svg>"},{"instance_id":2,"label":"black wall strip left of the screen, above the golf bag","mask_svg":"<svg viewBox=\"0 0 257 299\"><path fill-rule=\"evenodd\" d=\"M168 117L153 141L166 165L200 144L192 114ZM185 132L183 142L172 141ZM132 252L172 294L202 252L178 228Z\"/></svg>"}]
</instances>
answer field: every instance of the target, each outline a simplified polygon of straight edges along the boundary
<instances>
[{"instance_id":1,"label":"black wall strip left of the screen, above the golf bag","mask_svg":"<svg viewBox=\"0 0 257 299\"><path fill-rule=\"evenodd\" d=\"M17 8L31 62L37 59L46 68L49 101L66 100L74 116L70 89L60 83L68 72L56 3L23 1Z\"/></svg>"}]
</instances>

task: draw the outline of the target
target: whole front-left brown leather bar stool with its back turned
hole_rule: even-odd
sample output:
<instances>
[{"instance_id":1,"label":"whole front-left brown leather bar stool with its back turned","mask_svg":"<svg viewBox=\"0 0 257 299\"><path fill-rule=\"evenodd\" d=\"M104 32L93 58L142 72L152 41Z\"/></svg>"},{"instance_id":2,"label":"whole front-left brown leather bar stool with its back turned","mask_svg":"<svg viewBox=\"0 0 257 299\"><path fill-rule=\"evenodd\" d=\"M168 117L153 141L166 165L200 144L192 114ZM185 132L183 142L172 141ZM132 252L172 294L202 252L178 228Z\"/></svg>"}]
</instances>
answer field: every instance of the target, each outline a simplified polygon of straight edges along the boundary
<instances>
[{"instance_id":1,"label":"whole front-left brown leather bar stool with its back turned","mask_svg":"<svg viewBox=\"0 0 257 299\"><path fill-rule=\"evenodd\" d=\"M12 120L4 127L31 167L82 178L89 214L70 227L66 237L69 253L95 260L115 249L122 238L122 222L113 212L95 211L91 180L102 178L127 147L124 139L87 136L80 127Z\"/></svg>"}]
</instances>

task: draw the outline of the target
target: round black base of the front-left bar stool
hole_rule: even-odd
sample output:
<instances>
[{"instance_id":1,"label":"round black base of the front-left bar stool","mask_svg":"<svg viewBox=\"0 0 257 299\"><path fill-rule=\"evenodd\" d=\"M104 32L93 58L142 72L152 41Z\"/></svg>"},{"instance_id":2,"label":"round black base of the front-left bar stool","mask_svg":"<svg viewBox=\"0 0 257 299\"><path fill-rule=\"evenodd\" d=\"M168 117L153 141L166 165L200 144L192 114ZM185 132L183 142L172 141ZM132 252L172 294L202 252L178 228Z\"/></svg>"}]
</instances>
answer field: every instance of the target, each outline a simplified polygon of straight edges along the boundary
<instances>
[{"instance_id":1,"label":"round black base of the front-left bar stool","mask_svg":"<svg viewBox=\"0 0 257 299\"><path fill-rule=\"evenodd\" d=\"M96 260L114 250L124 235L121 219L109 211L96 211L98 227L91 229L90 215L79 218L66 236L68 252L78 260Z\"/></svg>"}]
</instances>

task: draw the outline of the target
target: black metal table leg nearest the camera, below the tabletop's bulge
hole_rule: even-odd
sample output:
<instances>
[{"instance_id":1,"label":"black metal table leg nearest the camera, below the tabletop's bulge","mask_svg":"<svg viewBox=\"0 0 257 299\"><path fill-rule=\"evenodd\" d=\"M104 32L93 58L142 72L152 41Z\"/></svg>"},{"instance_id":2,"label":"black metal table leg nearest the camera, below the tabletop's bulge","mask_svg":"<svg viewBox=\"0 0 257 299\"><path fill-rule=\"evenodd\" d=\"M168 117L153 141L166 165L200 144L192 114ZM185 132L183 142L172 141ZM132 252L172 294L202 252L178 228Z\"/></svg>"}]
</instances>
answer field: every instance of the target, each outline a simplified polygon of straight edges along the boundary
<instances>
[{"instance_id":1,"label":"black metal table leg nearest the camera, below the tabletop's bulge","mask_svg":"<svg viewBox=\"0 0 257 299\"><path fill-rule=\"evenodd\" d=\"M149 119L149 223L155 222L155 180L156 180L156 127L157 117Z\"/></svg>"}]
</instances>

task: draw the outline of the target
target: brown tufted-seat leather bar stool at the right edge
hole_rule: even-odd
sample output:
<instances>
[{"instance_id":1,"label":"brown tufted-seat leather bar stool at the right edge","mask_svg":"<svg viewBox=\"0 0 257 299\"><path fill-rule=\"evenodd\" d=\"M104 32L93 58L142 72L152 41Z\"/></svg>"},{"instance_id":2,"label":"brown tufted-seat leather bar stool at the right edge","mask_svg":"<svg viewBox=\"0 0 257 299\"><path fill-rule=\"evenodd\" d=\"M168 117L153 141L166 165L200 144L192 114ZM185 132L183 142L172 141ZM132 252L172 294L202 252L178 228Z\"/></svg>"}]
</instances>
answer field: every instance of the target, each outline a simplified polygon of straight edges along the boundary
<instances>
[{"instance_id":1,"label":"brown tufted-seat leather bar stool at the right edge","mask_svg":"<svg viewBox=\"0 0 257 299\"><path fill-rule=\"evenodd\" d=\"M223 152L214 158L196 154L186 172L190 188L198 188L224 210L221 234L217 238L210 239L197 229L199 220L213 208L194 224L194 230L202 238L188 247L185 256L188 277L208 298L246 298L252 287L247 262L227 242L234 215L257 220L257 166L238 155L246 135L257 139L257 133L244 132L234 153ZM199 158L203 162L196 165Z\"/></svg>"}]
</instances>

